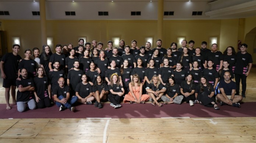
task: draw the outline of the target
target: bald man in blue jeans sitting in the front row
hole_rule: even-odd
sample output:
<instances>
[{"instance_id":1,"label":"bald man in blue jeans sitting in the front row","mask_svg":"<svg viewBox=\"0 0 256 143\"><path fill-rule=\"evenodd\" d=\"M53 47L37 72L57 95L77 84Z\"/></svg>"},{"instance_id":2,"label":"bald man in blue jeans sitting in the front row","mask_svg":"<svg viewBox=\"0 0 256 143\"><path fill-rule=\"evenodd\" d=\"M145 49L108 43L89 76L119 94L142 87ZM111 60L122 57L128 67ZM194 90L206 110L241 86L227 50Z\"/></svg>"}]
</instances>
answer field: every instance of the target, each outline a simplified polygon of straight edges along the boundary
<instances>
[{"instance_id":1,"label":"bald man in blue jeans sitting in the front row","mask_svg":"<svg viewBox=\"0 0 256 143\"><path fill-rule=\"evenodd\" d=\"M72 107L75 102L77 102L78 97L72 96L70 97L70 88L69 86L65 86L65 79L58 79L58 86L53 89L54 100L56 101L56 105L60 107L60 111L68 108L72 112L75 111L75 107Z\"/></svg>"}]
</instances>

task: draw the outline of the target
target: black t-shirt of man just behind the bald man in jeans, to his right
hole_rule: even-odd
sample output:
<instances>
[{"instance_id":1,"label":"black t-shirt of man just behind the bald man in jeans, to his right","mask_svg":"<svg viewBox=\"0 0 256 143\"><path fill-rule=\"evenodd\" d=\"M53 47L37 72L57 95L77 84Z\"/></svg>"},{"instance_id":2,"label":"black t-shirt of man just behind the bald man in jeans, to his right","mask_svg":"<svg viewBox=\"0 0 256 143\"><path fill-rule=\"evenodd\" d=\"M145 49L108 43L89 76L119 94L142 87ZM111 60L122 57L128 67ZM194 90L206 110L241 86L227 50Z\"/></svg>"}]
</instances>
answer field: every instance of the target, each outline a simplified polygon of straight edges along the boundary
<instances>
[{"instance_id":1,"label":"black t-shirt of man just behind the bald man in jeans, to his right","mask_svg":"<svg viewBox=\"0 0 256 143\"><path fill-rule=\"evenodd\" d=\"M77 87L77 84L82 81L82 75L83 71L79 69L76 71L75 69L71 69L68 72L67 79L70 79L70 89L75 90L75 87Z\"/></svg>"}]
</instances>

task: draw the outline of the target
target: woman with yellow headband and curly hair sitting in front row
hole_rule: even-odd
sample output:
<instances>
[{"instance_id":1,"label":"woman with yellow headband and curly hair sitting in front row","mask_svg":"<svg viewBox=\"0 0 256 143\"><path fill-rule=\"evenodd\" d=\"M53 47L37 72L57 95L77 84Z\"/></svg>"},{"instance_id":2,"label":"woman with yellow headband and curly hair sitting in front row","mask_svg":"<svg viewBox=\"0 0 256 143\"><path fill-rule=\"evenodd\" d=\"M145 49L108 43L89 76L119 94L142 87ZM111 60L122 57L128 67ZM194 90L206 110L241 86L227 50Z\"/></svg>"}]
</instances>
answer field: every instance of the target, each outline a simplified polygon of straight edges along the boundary
<instances>
[{"instance_id":1,"label":"woman with yellow headband and curly hair sitting in front row","mask_svg":"<svg viewBox=\"0 0 256 143\"><path fill-rule=\"evenodd\" d=\"M108 95L108 99L111 102L110 106L115 109L120 108L120 102L123 100L124 88L120 84L120 78L118 78L117 74L112 74L110 76L110 85L109 85L110 94Z\"/></svg>"}]
</instances>

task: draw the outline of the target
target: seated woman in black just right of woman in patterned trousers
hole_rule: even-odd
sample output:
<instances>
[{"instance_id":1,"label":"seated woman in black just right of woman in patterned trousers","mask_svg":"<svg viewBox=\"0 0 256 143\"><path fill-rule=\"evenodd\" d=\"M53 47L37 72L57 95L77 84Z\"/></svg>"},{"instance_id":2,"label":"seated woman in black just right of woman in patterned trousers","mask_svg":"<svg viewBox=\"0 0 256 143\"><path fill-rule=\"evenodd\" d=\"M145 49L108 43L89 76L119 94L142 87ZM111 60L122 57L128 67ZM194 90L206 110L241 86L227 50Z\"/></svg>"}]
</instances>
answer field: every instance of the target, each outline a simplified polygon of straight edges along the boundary
<instances>
[{"instance_id":1,"label":"seated woman in black just right of woman in patterned trousers","mask_svg":"<svg viewBox=\"0 0 256 143\"><path fill-rule=\"evenodd\" d=\"M189 103L190 106L194 105L193 101L196 99L196 97L195 97L195 84L193 81L192 74L189 74L186 77L186 80L181 83L181 94L184 96L186 103Z\"/></svg>"}]
</instances>

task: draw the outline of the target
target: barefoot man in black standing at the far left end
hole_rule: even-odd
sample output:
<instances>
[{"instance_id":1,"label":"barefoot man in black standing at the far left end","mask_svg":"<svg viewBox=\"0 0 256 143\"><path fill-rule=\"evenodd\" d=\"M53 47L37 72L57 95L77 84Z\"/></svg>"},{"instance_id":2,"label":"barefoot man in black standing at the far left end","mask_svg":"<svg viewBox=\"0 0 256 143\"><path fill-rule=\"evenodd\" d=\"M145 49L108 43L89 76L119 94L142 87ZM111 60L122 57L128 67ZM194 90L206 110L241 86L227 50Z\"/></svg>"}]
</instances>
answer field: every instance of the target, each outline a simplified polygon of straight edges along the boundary
<instances>
[{"instance_id":1,"label":"barefoot man in black standing at the far left end","mask_svg":"<svg viewBox=\"0 0 256 143\"><path fill-rule=\"evenodd\" d=\"M6 109L10 110L11 106L9 103L10 99L10 90L11 97L13 98L13 104L16 104L16 79L18 78L18 65L21 60L21 56L18 55L20 46L15 44L13 45L13 52L6 53L1 59L0 68L1 68L1 77L3 78L3 87L5 88L5 98L6 98Z\"/></svg>"}]
</instances>

